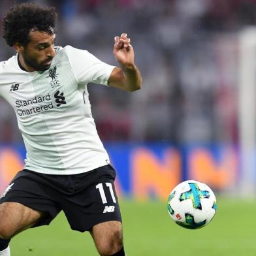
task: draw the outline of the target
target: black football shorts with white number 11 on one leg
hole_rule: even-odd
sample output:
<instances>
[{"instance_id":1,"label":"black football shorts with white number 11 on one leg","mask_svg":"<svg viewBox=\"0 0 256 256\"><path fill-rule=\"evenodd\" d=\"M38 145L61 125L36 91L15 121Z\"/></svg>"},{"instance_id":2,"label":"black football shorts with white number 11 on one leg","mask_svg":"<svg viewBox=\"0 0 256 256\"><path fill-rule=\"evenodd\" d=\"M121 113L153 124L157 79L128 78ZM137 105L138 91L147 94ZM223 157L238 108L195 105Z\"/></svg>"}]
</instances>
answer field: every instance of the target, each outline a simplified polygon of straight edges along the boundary
<instances>
[{"instance_id":1,"label":"black football shorts with white number 11 on one leg","mask_svg":"<svg viewBox=\"0 0 256 256\"><path fill-rule=\"evenodd\" d=\"M41 174L22 170L16 174L0 199L19 202L45 213L33 227L49 225L61 210L71 229L84 232L105 221L120 221L114 187L116 172L111 165L72 175Z\"/></svg>"}]
</instances>

